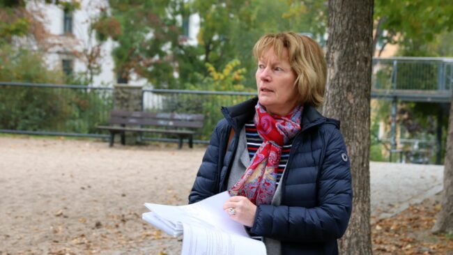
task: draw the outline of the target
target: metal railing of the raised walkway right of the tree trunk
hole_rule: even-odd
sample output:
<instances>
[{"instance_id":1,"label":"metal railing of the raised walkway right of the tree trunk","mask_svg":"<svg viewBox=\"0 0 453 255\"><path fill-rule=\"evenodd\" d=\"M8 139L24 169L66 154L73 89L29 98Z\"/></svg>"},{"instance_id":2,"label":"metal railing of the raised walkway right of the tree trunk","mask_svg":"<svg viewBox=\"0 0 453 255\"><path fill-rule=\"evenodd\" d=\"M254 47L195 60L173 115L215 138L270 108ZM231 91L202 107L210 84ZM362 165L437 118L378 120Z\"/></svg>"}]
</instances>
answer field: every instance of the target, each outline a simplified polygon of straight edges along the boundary
<instances>
[{"instance_id":1,"label":"metal railing of the raised walkway right of the tree trunk","mask_svg":"<svg viewBox=\"0 0 453 255\"><path fill-rule=\"evenodd\" d=\"M374 58L371 95L415 102L450 102L453 59L425 57Z\"/></svg>"}]
</instances>

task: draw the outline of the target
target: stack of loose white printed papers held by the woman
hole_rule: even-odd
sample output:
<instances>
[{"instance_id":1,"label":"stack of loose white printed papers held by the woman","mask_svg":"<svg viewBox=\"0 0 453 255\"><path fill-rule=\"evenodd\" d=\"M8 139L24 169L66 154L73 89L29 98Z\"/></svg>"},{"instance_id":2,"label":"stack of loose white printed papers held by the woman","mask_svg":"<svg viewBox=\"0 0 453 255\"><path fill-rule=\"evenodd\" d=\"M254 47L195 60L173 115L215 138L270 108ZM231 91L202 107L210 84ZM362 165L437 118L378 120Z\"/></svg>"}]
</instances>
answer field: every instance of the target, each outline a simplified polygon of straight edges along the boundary
<instances>
[{"instance_id":1,"label":"stack of loose white printed papers held by the woman","mask_svg":"<svg viewBox=\"0 0 453 255\"><path fill-rule=\"evenodd\" d=\"M145 212L142 218L171 236L184 235L184 255L266 255L263 242L249 238L244 226L224 212L227 199L228 192L222 192L187 206L145 203L151 212Z\"/></svg>"}]
</instances>

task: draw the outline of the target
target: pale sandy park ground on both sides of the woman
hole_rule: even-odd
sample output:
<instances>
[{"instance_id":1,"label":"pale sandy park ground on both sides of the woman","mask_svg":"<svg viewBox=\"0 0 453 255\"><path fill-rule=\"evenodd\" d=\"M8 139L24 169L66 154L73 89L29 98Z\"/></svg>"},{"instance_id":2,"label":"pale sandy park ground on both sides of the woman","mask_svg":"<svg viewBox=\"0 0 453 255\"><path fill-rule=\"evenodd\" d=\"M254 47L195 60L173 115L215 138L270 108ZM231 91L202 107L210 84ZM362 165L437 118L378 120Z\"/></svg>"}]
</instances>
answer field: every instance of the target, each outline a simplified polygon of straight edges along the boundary
<instances>
[{"instance_id":1,"label":"pale sandy park ground on both sides of the woman","mask_svg":"<svg viewBox=\"0 0 453 255\"><path fill-rule=\"evenodd\" d=\"M0 254L180 254L141 220L144 202L187 203L205 148L176 147L0 137ZM374 217L441 190L442 169L372 163Z\"/></svg>"}]
</instances>

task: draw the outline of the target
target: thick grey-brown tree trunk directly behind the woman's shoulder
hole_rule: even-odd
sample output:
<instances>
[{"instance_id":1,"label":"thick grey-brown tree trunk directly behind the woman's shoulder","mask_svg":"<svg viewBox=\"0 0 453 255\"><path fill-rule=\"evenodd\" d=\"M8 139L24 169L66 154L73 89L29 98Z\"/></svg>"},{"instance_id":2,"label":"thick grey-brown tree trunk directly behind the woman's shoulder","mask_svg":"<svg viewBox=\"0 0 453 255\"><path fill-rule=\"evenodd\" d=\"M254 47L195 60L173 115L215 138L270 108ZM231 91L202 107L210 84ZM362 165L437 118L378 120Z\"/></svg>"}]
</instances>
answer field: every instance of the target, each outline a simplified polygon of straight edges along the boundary
<instances>
[{"instance_id":1,"label":"thick grey-brown tree trunk directly behind the woman's shoulder","mask_svg":"<svg viewBox=\"0 0 453 255\"><path fill-rule=\"evenodd\" d=\"M353 176L353 212L341 254L371 254L369 146L373 0L329 0L323 114L341 121Z\"/></svg>"}]
</instances>

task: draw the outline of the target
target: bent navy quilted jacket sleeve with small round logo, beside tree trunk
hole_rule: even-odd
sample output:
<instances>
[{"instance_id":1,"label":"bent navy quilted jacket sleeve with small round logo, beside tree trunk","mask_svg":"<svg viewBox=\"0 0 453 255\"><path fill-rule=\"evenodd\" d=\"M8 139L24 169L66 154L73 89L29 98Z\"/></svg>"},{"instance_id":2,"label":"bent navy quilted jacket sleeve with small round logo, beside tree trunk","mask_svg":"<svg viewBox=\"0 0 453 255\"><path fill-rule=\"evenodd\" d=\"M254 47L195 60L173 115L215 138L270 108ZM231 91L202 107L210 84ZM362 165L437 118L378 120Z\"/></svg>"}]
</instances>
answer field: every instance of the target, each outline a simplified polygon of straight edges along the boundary
<instances>
[{"instance_id":1,"label":"bent navy quilted jacket sleeve with small round logo, beside tree trunk","mask_svg":"<svg viewBox=\"0 0 453 255\"><path fill-rule=\"evenodd\" d=\"M318 179L318 206L259 206L253 233L289 242L325 242L344 234L352 210L351 171L341 133L330 130L323 134L327 142Z\"/></svg>"}]
</instances>

